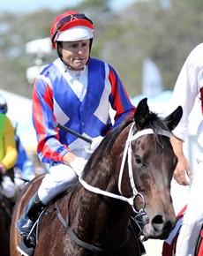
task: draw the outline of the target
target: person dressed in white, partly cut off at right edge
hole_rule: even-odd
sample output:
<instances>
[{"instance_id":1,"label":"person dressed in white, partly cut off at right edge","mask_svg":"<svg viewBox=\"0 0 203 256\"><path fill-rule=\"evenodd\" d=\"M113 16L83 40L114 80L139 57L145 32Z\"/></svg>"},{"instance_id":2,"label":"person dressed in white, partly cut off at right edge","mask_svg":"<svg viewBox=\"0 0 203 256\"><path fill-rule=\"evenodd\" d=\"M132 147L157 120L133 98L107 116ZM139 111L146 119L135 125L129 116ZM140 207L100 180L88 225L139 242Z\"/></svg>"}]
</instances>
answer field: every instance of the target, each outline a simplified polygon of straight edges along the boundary
<instances>
[{"instance_id":1,"label":"person dressed in white, partly cut off at right edge","mask_svg":"<svg viewBox=\"0 0 203 256\"><path fill-rule=\"evenodd\" d=\"M203 43L192 50L177 78L177 83L171 99L171 105L176 108L181 105L184 109L183 117L173 131L175 137L171 143L177 154L177 169L174 178L178 184L188 185L185 177L192 178L189 191L187 210L183 224L177 238L176 256L194 256L199 231L203 223L203 120L199 120L198 142L202 152L197 155L198 169L192 177L188 160L184 156L183 143L187 138L188 117L192 111L196 97L200 94L203 112Z\"/></svg>"}]
</instances>

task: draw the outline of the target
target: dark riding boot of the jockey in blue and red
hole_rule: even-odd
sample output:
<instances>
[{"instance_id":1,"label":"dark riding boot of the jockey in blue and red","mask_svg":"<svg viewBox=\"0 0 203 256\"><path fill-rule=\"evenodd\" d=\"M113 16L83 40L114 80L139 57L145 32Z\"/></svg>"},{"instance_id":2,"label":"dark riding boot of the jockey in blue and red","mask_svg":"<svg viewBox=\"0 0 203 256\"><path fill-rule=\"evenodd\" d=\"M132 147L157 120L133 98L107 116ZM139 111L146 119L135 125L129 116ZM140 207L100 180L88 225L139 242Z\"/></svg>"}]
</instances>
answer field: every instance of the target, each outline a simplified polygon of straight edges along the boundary
<instances>
[{"instance_id":1,"label":"dark riding boot of the jockey in blue and red","mask_svg":"<svg viewBox=\"0 0 203 256\"><path fill-rule=\"evenodd\" d=\"M21 216L17 222L17 229L19 230L19 235L23 239L28 240L30 244L36 245L36 234L31 232L34 222L37 221L39 215L41 215L42 210L46 207L39 199L38 193L36 192L33 198L26 205L26 210L24 215Z\"/></svg>"}]
</instances>

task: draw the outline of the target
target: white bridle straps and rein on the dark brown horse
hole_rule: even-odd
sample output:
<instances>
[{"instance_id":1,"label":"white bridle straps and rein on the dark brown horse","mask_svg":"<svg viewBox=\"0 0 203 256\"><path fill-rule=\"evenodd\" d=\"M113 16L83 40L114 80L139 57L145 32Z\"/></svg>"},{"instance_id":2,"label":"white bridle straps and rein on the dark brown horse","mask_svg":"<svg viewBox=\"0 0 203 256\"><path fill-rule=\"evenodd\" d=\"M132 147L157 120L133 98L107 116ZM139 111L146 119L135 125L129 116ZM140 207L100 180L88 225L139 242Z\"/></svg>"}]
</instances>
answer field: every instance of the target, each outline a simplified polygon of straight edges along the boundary
<instances>
[{"instance_id":1,"label":"white bridle straps and rein on the dark brown horse","mask_svg":"<svg viewBox=\"0 0 203 256\"><path fill-rule=\"evenodd\" d=\"M126 157L128 155L129 177L130 177L130 183L131 183L132 192L133 192L131 198L126 198L122 195L117 195L117 194L114 194L112 192L103 191L103 190L101 190L97 187L94 187L90 184L87 184L85 180L83 180L81 177L79 177L80 184L82 184L86 188L86 190L88 190L90 192L97 193L97 194L102 194L104 196L108 196L110 198L114 198L114 199L117 199L117 200L123 200L125 202L128 202L132 207L133 207L134 199L138 195L138 191L135 187L133 174L132 174L132 147L131 147L131 143L132 143L133 140L138 139L140 136L154 133L153 129L145 129L145 130L139 131L139 132L135 133L134 135L132 135L134 124L135 123L132 124L132 126L130 128L130 131L128 133L128 139L126 140L126 144L125 144L125 147L124 147L124 154L123 154L121 169L120 169L119 178L118 178L118 190L122 194L122 192L121 192L121 182L122 182L122 177L123 177L123 173L124 173L124 163L125 163ZM164 131L164 130L161 130L160 132L158 132L158 134L163 135L163 136L167 136L169 138L171 136L171 132Z\"/></svg>"}]
</instances>

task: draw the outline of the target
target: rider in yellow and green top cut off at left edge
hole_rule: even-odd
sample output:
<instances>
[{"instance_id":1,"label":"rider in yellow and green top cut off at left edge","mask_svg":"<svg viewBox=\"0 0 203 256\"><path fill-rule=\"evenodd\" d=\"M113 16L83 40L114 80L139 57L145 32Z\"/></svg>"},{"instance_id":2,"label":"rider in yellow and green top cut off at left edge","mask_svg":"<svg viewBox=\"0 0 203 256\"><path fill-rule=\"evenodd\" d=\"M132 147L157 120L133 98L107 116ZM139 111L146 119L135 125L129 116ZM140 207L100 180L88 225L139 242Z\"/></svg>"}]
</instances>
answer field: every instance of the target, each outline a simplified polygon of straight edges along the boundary
<instances>
[{"instance_id":1,"label":"rider in yellow and green top cut off at left edge","mask_svg":"<svg viewBox=\"0 0 203 256\"><path fill-rule=\"evenodd\" d=\"M0 94L0 194L15 202L19 195L17 186L8 175L15 166L18 151L15 141L15 129L11 120L5 115L7 103Z\"/></svg>"}]
</instances>

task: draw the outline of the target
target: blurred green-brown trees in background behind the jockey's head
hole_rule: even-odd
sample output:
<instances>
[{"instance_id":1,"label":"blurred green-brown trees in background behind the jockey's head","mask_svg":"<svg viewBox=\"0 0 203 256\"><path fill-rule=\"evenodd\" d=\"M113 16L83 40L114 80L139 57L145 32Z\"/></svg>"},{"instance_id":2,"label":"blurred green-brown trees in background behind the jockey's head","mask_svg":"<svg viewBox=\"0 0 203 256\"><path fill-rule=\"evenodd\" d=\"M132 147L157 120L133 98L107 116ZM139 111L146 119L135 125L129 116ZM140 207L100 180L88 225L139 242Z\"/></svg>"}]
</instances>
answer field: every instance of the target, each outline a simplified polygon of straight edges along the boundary
<instances>
[{"instance_id":1,"label":"blurred green-brown trees in background behind the jockey's head","mask_svg":"<svg viewBox=\"0 0 203 256\"><path fill-rule=\"evenodd\" d=\"M168 8L159 1L135 2L120 11L111 9L108 0L87 0L74 10L94 21L91 55L117 69L132 97L141 94L144 58L150 57L162 72L164 90L172 90L186 56L203 41L201 0L173 0ZM26 54L26 42L48 37L54 18L64 11L67 9L1 15L0 87L32 97L26 69L34 65L35 56ZM45 62L55 58L53 50Z\"/></svg>"}]
</instances>

